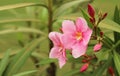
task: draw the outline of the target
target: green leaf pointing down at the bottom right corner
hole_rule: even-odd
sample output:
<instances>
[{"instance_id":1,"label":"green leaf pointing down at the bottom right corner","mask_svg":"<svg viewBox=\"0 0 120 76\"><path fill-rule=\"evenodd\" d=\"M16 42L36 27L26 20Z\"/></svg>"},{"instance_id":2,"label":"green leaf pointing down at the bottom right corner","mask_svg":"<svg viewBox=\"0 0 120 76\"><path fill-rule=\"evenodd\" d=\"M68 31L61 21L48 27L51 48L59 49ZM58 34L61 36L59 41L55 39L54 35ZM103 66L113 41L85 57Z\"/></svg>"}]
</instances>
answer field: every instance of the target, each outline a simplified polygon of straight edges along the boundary
<instances>
[{"instance_id":1,"label":"green leaf pointing down at the bottom right corner","mask_svg":"<svg viewBox=\"0 0 120 76\"><path fill-rule=\"evenodd\" d=\"M113 54L114 54L115 67L118 71L118 74L120 75L120 55L116 51L113 51Z\"/></svg>"}]
</instances>

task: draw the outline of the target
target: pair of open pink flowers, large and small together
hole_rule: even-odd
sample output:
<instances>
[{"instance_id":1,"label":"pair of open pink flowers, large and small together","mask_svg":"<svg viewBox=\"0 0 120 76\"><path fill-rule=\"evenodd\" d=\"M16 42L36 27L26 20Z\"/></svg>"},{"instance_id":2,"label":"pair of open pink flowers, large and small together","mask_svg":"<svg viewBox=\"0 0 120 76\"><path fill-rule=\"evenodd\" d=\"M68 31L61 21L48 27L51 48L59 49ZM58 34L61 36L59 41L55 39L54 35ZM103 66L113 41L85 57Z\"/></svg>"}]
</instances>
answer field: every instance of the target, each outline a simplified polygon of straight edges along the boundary
<instances>
[{"instance_id":1,"label":"pair of open pink flowers, large and small together","mask_svg":"<svg viewBox=\"0 0 120 76\"><path fill-rule=\"evenodd\" d=\"M49 38L54 45L49 57L57 58L60 68L67 61L66 50L69 50L74 58L84 55L92 35L92 30L82 17L77 18L75 23L70 20L64 20L61 30L63 33L51 32L49 34Z\"/></svg>"}]
</instances>

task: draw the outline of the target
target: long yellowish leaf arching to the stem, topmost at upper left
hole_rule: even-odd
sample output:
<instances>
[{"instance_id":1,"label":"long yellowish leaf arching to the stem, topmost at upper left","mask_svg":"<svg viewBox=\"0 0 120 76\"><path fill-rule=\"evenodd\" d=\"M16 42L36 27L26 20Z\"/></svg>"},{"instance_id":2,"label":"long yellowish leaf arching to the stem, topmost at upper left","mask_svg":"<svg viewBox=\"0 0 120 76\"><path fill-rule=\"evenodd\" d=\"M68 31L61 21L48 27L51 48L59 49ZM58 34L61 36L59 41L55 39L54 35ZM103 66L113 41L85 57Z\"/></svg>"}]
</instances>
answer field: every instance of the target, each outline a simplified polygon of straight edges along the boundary
<instances>
[{"instance_id":1,"label":"long yellowish leaf arching to the stem, topmost at upper left","mask_svg":"<svg viewBox=\"0 0 120 76\"><path fill-rule=\"evenodd\" d=\"M19 3L19 4L0 6L0 11L21 8L21 7L27 7L27 6L43 6L43 7L47 8L45 5L38 4L38 3Z\"/></svg>"}]
</instances>

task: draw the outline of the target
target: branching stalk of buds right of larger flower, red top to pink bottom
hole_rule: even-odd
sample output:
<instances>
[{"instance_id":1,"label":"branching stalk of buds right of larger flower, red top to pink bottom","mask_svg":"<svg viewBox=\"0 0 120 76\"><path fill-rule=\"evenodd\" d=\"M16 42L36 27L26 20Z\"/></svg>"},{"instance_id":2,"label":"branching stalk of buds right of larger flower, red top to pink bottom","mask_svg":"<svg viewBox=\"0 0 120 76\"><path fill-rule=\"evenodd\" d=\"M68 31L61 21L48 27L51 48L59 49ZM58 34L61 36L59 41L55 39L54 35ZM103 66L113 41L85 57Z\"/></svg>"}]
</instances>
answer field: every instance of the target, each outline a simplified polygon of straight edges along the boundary
<instances>
[{"instance_id":1,"label":"branching stalk of buds right of larger flower, red top to pink bottom","mask_svg":"<svg viewBox=\"0 0 120 76\"><path fill-rule=\"evenodd\" d=\"M107 16L107 13L102 14L101 12L99 12L98 14L98 20L96 20L95 18L95 9L88 4L88 14L90 16L90 22L93 24L93 32L94 32L94 39L98 39L98 43L94 46L93 50L94 52L98 52L101 47L102 47L102 39L103 39L103 32L99 32L98 29L98 24L105 19L105 17ZM97 33L99 32L99 33ZM100 35L100 37L98 38L98 34Z\"/></svg>"}]
</instances>

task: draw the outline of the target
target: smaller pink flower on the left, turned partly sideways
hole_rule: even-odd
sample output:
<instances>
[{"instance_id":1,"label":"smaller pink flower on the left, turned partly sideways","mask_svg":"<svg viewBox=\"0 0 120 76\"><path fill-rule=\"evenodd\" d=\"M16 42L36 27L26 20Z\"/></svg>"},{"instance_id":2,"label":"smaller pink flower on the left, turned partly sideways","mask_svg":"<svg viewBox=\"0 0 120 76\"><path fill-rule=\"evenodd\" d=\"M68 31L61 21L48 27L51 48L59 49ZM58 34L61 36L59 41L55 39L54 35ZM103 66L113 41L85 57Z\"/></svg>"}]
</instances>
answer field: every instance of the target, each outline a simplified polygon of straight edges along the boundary
<instances>
[{"instance_id":1,"label":"smaller pink flower on the left, turned partly sideways","mask_svg":"<svg viewBox=\"0 0 120 76\"><path fill-rule=\"evenodd\" d=\"M49 34L50 40L52 40L54 46L50 51L49 57L50 58L57 58L59 61L60 68L66 63L66 52L63 46L63 41L61 39L62 34L57 32L51 32Z\"/></svg>"}]
</instances>

